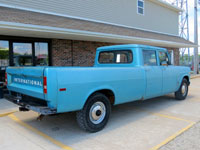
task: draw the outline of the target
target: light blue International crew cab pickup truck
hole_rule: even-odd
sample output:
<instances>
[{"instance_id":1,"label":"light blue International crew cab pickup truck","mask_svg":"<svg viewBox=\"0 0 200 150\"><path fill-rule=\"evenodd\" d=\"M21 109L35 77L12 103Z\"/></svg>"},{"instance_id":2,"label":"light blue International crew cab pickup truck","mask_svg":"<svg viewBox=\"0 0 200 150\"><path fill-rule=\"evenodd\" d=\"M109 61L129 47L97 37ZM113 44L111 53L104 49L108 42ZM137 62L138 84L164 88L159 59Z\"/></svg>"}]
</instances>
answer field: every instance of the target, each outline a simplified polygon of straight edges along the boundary
<instances>
[{"instance_id":1,"label":"light blue International crew cab pickup truck","mask_svg":"<svg viewBox=\"0 0 200 150\"><path fill-rule=\"evenodd\" d=\"M190 69L173 66L166 49L145 45L100 47L93 67L8 67L6 98L43 115L77 111L79 126L97 132L111 106L175 93L188 94Z\"/></svg>"}]
</instances>

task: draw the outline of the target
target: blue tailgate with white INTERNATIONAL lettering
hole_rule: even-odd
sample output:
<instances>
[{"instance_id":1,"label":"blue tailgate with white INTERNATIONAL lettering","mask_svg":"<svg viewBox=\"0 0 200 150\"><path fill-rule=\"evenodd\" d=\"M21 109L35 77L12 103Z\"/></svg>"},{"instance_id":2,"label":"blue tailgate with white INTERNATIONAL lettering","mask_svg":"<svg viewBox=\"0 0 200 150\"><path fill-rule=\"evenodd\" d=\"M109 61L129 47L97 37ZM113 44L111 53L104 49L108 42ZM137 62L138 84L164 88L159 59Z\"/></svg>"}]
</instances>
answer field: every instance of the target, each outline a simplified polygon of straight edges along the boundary
<instances>
[{"instance_id":1,"label":"blue tailgate with white INTERNATIONAL lettering","mask_svg":"<svg viewBox=\"0 0 200 150\"><path fill-rule=\"evenodd\" d=\"M45 67L8 67L8 90L44 99L44 69Z\"/></svg>"}]
</instances>

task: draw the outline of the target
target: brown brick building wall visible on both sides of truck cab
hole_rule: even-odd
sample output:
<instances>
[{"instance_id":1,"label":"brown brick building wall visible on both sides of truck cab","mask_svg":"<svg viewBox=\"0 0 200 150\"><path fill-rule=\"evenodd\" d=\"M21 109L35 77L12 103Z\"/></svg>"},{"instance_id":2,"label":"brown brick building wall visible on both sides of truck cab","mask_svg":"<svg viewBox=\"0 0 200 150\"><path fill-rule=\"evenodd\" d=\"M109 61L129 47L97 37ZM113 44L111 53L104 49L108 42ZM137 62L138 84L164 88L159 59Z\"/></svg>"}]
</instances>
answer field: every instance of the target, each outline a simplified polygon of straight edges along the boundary
<instances>
[{"instance_id":1,"label":"brown brick building wall visible on both sides of truck cab","mask_svg":"<svg viewBox=\"0 0 200 150\"><path fill-rule=\"evenodd\" d=\"M53 66L93 66L96 49L100 46L116 45L113 43L52 40ZM174 65L179 65L179 49L167 48L174 51ZM73 59L72 59L73 58ZM73 60L73 62L72 62Z\"/></svg>"}]
</instances>

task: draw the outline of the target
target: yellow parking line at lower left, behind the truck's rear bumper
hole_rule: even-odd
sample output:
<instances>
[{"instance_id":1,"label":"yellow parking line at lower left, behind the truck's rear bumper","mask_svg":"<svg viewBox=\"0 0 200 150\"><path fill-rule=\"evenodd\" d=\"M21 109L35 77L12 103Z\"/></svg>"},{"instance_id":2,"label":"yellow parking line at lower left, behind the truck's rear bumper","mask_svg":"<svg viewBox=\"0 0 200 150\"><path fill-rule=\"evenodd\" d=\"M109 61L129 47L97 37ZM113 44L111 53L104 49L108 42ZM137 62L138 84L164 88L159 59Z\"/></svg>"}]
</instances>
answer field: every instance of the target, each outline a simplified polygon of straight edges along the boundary
<instances>
[{"instance_id":1,"label":"yellow parking line at lower left, behind the truck's rear bumper","mask_svg":"<svg viewBox=\"0 0 200 150\"><path fill-rule=\"evenodd\" d=\"M44 137L45 139L49 140L50 142L52 142L53 144L59 146L60 148L66 149L66 150L72 150L71 147L69 147L69 146L67 146L67 145L65 145L65 144L53 139L52 137L46 135L45 133L39 131L38 129L33 128L32 126L28 125L27 123L21 121L14 114L10 114L10 115L8 115L8 117L11 118L12 120L14 120L15 122L17 122L18 124L20 124L21 126L23 126L23 127L27 128L27 129L31 130L32 132Z\"/></svg>"}]
</instances>

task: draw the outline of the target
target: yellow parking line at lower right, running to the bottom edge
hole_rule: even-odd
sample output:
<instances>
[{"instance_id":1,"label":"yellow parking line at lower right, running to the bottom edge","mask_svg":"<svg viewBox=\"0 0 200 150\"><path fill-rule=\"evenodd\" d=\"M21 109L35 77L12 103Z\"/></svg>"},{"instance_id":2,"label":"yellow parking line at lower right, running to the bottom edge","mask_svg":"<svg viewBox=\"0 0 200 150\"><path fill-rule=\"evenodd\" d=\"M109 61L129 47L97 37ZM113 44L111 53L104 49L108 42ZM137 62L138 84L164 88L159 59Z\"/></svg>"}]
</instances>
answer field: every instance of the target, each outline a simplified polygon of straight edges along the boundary
<instances>
[{"instance_id":1,"label":"yellow parking line at lower right, running to the bottom edge","mask_svg":"<svg viewBox=\"0 0 200 150\"><path fill-rule=\"evenodd\" d=\"M160 144L156 145L155 147L151 148L150 150L158 150L159 148L161 148L165 144L169 143L170 141L175 139L177 136L179 136L183 132L185 132L188 129L190 129L193 125L195 125L195 122L190 123L187 127L183 128L180 131L176 132L175 134L171 135L170 137L168 137L167 139L165 139L163 142L161 142Z\"/></svg>"}]
</instances>

